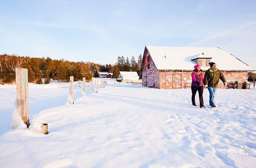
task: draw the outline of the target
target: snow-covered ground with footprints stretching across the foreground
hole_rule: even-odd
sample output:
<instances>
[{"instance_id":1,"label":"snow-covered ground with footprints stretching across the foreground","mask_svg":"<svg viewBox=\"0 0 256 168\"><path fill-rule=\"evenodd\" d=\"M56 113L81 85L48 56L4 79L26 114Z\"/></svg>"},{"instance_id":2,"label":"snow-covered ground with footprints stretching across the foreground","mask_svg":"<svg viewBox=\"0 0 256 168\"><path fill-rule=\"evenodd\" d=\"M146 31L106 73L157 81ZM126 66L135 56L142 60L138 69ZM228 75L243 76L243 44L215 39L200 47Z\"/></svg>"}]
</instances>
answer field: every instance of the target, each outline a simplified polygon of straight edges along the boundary
<instances>
[{"instance_id":1,"label":"snow-covered ground with footprints stretching across the foreground","mask_svg":"<svg viewBox=\"0 0 256 168\"><path fill-rule=\"evenodd\" d=\"M46 135L8 130L16 86L0 85L0 167L255 167L252 85L217 89L215 109L204 89L205 109L199 109L190 89L109 83L98 94L86 83L86 97L75 87L74 104L67 105L69 83L29 84L30 123L48 123Z\"/></svg>"}]
</instances>

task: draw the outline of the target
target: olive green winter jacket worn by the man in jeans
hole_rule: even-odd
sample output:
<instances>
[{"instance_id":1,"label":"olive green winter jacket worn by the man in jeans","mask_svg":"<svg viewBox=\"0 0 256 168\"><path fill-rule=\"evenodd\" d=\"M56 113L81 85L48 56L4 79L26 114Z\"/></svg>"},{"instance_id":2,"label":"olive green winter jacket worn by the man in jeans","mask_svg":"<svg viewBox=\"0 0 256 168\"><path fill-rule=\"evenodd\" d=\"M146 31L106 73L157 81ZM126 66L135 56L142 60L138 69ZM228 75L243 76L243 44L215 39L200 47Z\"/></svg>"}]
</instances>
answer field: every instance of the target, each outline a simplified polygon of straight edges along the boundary
<instances>
[{"instance_id":1,"label":"olive green winter jacket worn by the man in jeans","mask_svg":"<svg viewBox=\"0 0 256 168\"><path fill-rule=\"evenodd\" d=\"M204 85L208 85L208 87L217 88L219 79L223 83L226 82L226 79L225 79L223 73L217 68L215 68L214 72L211 68L209 68L204 73Z\"/></svg>"}]
</instances>

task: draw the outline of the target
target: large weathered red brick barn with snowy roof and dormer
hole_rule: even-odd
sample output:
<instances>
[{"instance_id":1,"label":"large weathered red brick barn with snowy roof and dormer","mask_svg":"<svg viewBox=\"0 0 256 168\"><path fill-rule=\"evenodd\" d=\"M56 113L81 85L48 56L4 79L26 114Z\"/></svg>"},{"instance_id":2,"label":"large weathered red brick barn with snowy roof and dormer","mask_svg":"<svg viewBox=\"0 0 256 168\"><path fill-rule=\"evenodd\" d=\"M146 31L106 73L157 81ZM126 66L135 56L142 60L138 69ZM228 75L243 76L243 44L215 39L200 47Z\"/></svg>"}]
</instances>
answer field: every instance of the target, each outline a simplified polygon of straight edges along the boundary
<instances>
[{"instance_id":1,"label":"large weathered red brick barn with snowy roof and dormer","mask_svg":"<svg viewBox=\"0 0 256 168\"><path fill-rule=\"evenodd\" d=\"M214 62L224 74L228 86L232 82L247 81L247 71L254 70L229 52L209 47L156 47L145 46L142 64L142 86L159 89L187 88L191 86L194 65L205 72ZM218 88L224 88L220 80Z\"/></svg>"}]
</instances>

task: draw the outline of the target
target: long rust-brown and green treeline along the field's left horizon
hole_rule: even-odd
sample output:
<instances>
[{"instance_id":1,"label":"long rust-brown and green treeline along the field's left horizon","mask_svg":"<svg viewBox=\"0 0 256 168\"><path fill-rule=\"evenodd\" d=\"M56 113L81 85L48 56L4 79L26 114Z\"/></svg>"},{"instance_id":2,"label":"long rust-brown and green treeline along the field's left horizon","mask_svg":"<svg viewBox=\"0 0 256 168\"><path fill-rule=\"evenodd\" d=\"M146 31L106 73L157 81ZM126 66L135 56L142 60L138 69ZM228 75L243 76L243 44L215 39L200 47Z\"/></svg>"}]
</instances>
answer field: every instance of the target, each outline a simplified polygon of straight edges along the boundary
<instances>
[{"instance_id":1,"label":"long rust-brown and green treeline along the field's left horizon","mask_svg":"<svg viewBox=\"0 0 256 168\"><path fill-rule=\"evenodd\" d=\"M15 80L15 68L28 69L28 81L49 83L50 79L69 81L70 76L74 80L91 80L93 77L99 77L98 72L114 72L113 65L100 65L92 62L70 62L64 59L55 60L47 57L20 57L16 55L0 55L0 79L4 83Z\"/></svg>"}]
</instances>

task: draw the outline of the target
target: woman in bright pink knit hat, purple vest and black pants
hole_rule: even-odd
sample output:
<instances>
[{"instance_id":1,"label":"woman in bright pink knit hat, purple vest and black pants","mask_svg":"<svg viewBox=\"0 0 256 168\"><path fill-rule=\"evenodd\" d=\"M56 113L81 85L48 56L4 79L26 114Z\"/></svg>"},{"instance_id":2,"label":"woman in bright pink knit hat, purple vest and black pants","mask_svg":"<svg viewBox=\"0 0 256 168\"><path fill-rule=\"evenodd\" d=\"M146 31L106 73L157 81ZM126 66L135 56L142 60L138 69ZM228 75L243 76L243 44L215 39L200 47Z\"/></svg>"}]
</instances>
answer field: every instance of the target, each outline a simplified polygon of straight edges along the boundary
<instances>
[{"instance_id":1,"label":"woman in bright pink knit hat, purple vest and black pants","mask_svg":"<svg viewBox=\"0 0 256 168\"><path fill-rule=\"evenodd\" d=\"M194 106L197 106L196 102L195 102L195 96L196 96L196 91L198 91L200 108L203 109L204 108L204 100L203 100L204 74L203 74L203 71L201 70L201 66L200 65L197 64L197 65L194 66L194 68L195 69L193 70L193 72L191 74L191 76L192 76L192 84L191 84L192 104Z\"/></svg>"}]
</instances>

